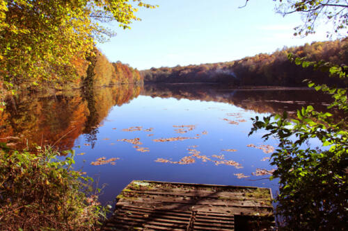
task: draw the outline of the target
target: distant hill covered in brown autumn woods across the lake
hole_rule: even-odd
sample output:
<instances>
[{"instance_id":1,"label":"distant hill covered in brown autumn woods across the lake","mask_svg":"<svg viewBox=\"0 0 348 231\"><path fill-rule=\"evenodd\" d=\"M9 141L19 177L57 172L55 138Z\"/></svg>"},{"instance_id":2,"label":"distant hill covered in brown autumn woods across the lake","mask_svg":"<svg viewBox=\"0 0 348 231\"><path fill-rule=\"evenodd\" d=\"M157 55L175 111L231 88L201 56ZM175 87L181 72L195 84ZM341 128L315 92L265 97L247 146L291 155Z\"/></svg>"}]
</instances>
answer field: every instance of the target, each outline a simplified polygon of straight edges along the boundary
<instances>
[{"instance_id":1,"label":"distant hill covered in brown autumn woods across the lake","mask_svg":"<svg viewBox=\"0 0 348 231\"><path fill-rule=\"evenodd\" d=\"M326 60L338 65L348 65L348 40L313 42L304 46L284 47L274 53L260 53L232 62L189 65L186 67L161 67L140 71L145 83L221 83L233 86L306 86L306 78L317 83L347 85L328 78L327 74L303 69L287 60L294 53L308 60Z\"/></svg>"}]
</instances>

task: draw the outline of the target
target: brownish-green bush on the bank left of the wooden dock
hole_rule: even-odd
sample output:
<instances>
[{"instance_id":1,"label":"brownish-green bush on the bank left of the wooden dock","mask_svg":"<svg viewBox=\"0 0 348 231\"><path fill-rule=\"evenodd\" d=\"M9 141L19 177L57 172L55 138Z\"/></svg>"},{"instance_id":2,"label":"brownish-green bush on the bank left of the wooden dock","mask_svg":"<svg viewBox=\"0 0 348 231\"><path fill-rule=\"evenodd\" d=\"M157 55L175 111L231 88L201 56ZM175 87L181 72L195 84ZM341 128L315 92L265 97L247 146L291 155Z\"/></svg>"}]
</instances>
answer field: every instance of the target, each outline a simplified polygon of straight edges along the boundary
<instances>
[{"instance_id":1,"label":"brownish-green bush on the bank left of the wooden dock","mask_svg":"<svg viewBox=\"0 0 348 231\"><path fill-rule=\"evenodd\" d=\"M73 151L0 149L0 230L97 230L106 209ZM65 155L58 160L58 155Z\"/></svg>"}]
</instances>

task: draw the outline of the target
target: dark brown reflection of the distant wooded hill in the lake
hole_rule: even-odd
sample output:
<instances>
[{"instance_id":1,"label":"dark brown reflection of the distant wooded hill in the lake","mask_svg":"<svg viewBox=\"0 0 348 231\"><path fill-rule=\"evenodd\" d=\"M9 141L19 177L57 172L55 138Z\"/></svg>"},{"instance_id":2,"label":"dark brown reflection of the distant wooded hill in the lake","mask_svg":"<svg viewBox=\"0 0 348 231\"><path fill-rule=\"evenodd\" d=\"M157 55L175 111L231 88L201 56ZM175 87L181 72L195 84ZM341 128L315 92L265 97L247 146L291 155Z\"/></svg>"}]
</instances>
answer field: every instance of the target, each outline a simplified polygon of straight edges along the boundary
<instances>
[{"instance_id":1,"label":"dark brown reflection of the distant wooded hill in the lake","mask_svg":"<svg viewBox=\"0 0 348 231\"><path fill-rule=\"evenodd\" d=\"M262 88L229 89L223 85L207 84L162 84L145 85L142 95L214 101L229 103L245 110L259 113L296 112L305 105L313 105L318 111L326 110L331 97L313 89ZM240 114L228 114L240 118Z\"/></svg>"}]
</instances>

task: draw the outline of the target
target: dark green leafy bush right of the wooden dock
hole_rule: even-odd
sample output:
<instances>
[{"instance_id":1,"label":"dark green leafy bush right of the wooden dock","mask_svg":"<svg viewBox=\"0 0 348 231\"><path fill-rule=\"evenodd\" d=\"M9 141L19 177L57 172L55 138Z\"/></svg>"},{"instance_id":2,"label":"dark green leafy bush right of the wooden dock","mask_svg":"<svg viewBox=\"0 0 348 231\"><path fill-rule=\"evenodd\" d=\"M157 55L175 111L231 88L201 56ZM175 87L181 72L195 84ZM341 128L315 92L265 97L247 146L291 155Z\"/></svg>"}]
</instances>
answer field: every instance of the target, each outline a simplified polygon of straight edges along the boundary
<instances>
[{"instance_id":1,"label":"dark green leafy bush right of the wooden dock","mask_svg":"<svg viewBox=\"0 0 348 231\"><path fill-rule=\"evenodd\" d=\"M347 78L345 65L330 62L308 62L305 58L290 60L302 67L326 71L330 76ZM287 115L253 119L252 134L265 129L278 139L278 149L271 155L271 164L277 166L273 178L279 178L280 193L277 212L283 225L305 230L333 228L340 230L347 220L347 89L317 85L308 80L308 86L333 96L329 109L340 111L341 120L330 112L317 112L313 106L297 111L297 118L288 121ZM310 144L313 139L319 147ZM342 226L343 225L343 226Z\"/></svg>"}]
</instances>

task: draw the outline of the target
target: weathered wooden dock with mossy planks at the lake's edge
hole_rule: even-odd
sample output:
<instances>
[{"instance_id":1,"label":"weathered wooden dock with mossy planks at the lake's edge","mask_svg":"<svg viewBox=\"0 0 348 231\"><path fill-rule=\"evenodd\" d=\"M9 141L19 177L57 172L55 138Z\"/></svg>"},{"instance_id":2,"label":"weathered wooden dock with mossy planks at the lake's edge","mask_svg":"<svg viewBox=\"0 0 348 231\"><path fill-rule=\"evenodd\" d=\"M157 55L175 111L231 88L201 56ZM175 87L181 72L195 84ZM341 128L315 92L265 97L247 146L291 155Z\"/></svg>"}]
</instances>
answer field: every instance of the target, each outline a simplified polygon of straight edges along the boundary
<instances>
[{"instance_id":1,"label":"weathered wooden dock with mossy planks at the lake's edge","mask_svg":"<svg viewBox=\"0 0 348 231\"><path fill-rule=\"evenodd\" d=\"M271 189L133 180L104 230L267 230Z\"/></svg>"}]
</instances>

